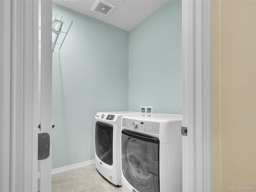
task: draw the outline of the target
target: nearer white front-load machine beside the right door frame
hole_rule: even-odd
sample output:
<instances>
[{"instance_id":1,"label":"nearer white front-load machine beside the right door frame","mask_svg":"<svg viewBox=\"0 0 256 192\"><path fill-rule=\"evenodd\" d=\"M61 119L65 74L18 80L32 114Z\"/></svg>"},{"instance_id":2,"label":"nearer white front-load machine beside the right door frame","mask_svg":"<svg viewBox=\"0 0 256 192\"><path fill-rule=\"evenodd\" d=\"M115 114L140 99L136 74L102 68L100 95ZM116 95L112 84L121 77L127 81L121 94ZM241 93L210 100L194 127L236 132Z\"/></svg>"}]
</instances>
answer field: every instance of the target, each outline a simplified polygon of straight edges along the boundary
<instances>
[{"instance_id":1,"label":"nearer white front-load machine beside the right door frame","mask_svg":"<svg viewBox=\"0 0 256 192\"><path fill-rule=\"evenodd\" d=\"M182 192L182 115L123 116L123 192Z\"/></svg>"}]
</instances>

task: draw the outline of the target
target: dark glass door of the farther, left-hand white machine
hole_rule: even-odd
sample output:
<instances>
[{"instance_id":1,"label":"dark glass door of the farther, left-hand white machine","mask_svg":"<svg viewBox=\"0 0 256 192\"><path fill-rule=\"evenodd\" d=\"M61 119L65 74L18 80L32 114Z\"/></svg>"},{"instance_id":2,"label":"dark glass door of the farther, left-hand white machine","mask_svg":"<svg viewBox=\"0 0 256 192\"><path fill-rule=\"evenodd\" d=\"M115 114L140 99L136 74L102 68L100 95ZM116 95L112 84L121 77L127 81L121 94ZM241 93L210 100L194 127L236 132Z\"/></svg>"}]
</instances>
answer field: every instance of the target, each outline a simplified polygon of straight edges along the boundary
<instances>
[{"instance_id":1,"label":"dark glass door of the farther, left-hand white machine","mask_svg":"<svg viewBox=\"0 0 256 192\"><path fill-rule=\"evenodd\" d=\"M108 164L113 164L113 126L96 122L95 124L95 151L98 158Z\"/></svg>"}]
</instances>

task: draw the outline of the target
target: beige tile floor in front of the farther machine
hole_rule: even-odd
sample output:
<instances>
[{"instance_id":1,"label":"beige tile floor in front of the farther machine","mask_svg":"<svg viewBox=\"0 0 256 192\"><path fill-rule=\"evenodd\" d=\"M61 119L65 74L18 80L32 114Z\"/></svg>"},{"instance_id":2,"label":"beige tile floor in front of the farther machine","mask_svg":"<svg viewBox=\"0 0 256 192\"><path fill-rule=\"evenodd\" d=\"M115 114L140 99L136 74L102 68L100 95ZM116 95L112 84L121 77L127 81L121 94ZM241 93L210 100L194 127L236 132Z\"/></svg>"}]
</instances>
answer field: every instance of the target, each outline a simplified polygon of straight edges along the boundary
<instances>
[{"instance_id":1,"label":"beige tile floor in front of the farther machine","mask_svg":"<svg viewBox=\"0 0 256 192\"><path fill-rule=\"evenodd\" d=\"M52 192L121 192L106 180L95 165L52 176Z\"/></svg>"}]
</instances>

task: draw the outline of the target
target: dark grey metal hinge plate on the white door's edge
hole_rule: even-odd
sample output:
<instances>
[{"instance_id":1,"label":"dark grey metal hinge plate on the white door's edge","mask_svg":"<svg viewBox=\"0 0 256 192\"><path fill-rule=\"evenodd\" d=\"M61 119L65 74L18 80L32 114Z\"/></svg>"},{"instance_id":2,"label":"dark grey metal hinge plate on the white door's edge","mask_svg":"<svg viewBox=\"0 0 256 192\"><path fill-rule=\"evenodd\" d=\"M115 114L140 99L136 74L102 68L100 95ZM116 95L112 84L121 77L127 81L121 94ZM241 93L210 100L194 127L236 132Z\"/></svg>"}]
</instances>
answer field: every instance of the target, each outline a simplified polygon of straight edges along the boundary
<instances>
[{"instance_id":1,"label":"dark grey metal hinge plate on the white door's edge","mask_svg":"<svg viewBox=\"0 0 256 192\"><path fill-rule=\"evenodd\" d=\"M50 156L50 135L48 133L38 133L38 160L46 159Z\"/></svg>"}]
</instances>

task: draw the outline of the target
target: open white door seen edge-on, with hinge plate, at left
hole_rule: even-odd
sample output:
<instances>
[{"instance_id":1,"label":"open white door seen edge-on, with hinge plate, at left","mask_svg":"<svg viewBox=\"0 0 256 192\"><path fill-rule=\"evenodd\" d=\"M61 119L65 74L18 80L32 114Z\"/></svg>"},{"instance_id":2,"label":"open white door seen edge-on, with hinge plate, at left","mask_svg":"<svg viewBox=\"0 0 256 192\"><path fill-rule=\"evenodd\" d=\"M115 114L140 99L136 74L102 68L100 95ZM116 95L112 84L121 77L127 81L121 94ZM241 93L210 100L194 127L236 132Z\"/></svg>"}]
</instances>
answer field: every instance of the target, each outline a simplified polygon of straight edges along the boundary
<instances>
[{"instance_id":1,"label":"open white door seen edge-on, with hinge plate, at left","mask_svg":"<svg viewBox=\"0 0 256 192\"><path fill-rule=\"evenodd\" d=\"M38 191L50 192L52 187L52 0L39 1L41 9L41 42L39 43L39 138L49 136L48 154L38 153ZM40 20L40 16L39 16ZM40 23L40 22L39 22ZM47 157L48 156L48 157Z\"/></svg>"}]
</instances>

